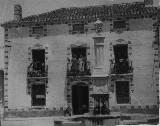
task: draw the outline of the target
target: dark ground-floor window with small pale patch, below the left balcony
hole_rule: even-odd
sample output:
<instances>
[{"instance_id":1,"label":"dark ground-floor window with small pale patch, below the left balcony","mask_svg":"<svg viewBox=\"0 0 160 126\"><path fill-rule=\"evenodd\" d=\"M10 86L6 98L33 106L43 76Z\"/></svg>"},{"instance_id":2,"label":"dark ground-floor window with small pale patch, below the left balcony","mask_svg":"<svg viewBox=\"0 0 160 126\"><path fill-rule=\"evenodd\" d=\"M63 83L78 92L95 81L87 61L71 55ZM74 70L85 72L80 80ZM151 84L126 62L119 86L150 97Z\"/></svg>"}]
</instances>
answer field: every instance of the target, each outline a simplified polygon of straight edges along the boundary
<instances>
[{"instance_id":1,"label":"dark ground-floor window with small pale patch, below the left balcony","mask_svg":"<svg viewBox=\"0 0 160 126\"><path fill-rule=\"evenodd\" d=\"M44 106L46 103L45 85L32 85L32 106Z\"/></svg>"}]
</instances>

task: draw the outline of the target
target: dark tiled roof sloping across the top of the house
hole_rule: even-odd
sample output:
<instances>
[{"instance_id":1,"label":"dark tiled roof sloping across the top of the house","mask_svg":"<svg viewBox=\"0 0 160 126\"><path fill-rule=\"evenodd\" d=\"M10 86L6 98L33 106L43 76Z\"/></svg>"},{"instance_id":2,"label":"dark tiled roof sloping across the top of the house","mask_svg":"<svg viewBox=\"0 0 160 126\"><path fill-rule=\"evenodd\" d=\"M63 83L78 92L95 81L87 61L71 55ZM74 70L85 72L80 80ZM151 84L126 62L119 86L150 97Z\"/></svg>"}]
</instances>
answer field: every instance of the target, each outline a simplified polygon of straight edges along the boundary
<instances>
[{"instance_id":1,"label":"dark tiled roof sloping across the top of the house","mask_svg":"<svg viewBox=\"0 0 160 126\"><path fill-rule=\"evenodd\" d=\"M2 24L5 26L21 26L32 24L60 24L77 20L111 20L118 17L143 18L157 16L157 7L145 7L143 2L97 5L87 7L71 7L53 10L47 13L24 17L20 20L12 20Z\"/></svg>"}]
</instances>

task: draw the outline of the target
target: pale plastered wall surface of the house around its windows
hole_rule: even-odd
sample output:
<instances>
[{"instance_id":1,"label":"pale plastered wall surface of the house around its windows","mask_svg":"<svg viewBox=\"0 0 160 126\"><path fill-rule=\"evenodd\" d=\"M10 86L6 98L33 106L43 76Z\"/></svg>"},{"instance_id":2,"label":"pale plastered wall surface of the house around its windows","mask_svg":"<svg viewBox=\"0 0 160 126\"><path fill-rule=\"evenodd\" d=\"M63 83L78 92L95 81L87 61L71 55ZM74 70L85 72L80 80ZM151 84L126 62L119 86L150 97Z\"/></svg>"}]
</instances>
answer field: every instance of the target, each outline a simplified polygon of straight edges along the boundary
<instances>
[{"instance_id":1,"label":"pale plastered wall surface of the house around its windows","mask_svg":"<svg viewBox=\"0 0 160 126\"><path fill-rule=\"evenodd\" d=\"M112 32L112 21L105 21L102 35L104 40L104 71L109 74L110 43L119 39L132 43L133 81L130 93L131 104L122 106L157 105L158 80L154 77L155 32L152 18L129 19L127 31ZM68 24L48 25L46 35L35 38L30 34L29 26L14 27L5 30L5 107L9 109L31 108L31 96L27 94L28 48L36 44L48 47L48 88L46 108L65 107L65 82L67 69L67 48L71 44L86 43L90 47L92 71L95 66L93 23L88 23L85 34L69 33ZM8 46L9 45L9 46ZM157 61L156 61L157 62ZM158 69L158 68L157 68ZM115 91L110 93L110 106L116 104Z\"/></svg>"}]
</instances>

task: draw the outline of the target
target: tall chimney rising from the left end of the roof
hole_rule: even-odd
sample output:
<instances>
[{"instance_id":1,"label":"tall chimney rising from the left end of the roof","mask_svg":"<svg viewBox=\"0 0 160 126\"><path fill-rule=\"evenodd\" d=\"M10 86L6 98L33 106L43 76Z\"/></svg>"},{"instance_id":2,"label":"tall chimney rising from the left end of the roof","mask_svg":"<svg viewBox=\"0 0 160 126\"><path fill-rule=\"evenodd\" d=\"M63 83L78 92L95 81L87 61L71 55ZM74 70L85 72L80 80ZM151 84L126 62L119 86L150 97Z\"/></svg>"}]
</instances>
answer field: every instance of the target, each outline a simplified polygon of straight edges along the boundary
<instances>
[{"instance_id":1,"label":"tall chimney rising from the left end of the roof","mask_svg":"<svg viewBox=\"0 0 160 126\"><path fill-rule=\"evenodd\" d=\"M14 5L14 20L20 20L22 18L22 7L19 4Z\"/></svg>"}]
</instances>

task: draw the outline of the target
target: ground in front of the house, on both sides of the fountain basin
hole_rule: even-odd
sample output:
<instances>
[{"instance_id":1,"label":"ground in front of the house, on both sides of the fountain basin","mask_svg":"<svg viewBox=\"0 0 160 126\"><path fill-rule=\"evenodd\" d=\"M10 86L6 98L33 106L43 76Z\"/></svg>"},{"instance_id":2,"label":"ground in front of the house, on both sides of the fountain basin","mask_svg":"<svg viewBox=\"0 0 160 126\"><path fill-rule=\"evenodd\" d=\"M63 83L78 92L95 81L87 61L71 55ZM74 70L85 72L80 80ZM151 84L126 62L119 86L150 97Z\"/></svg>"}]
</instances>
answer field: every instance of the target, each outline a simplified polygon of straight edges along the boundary
<instances>
[{"instance_id":1,"label":"ground in front of the house, on both sides of the fountain basin","mask_svg":"<svg viewBox=\"0 0 160 126\"><path fill-rule=\"evenodd\" d=\"M68 117L33 117L33 118L6 118L1 126L54 126L55 120L65 120ZM153 114L121 114L120 124L151 124L156 125L159 117Z\"/></svg>"}]
</instances>

